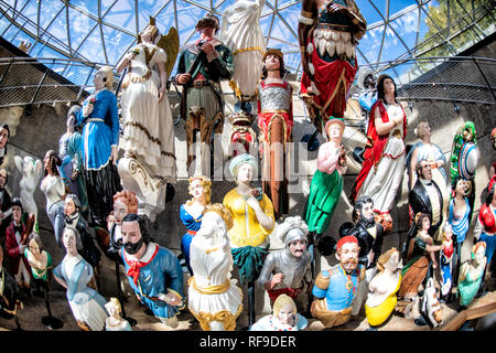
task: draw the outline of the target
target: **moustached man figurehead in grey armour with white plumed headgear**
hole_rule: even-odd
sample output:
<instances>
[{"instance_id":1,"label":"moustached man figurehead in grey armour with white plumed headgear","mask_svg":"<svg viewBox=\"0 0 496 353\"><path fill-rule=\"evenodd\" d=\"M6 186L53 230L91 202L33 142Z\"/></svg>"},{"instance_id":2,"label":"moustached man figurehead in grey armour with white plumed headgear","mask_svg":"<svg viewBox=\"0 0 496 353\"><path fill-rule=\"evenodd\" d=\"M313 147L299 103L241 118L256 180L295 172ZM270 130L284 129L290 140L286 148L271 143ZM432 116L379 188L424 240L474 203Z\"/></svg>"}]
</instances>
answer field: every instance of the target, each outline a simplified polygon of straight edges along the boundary
<instances>
[{"instance_id":1,"label":"moustached man figurehead in grey armour with white plumed headgear","mask_svg":"<svg viewBox=\"0 0 496 353\"><path fill-rule=\"evenodd\" d=\"M300 217L287 217L277 228L277 236L284 248L271 252L265 263L257 284L263 287L271 300L280 295L295 299L306 288L310 289L311 256L306 248L309 227Z\"/></svg>"}]
</instances>

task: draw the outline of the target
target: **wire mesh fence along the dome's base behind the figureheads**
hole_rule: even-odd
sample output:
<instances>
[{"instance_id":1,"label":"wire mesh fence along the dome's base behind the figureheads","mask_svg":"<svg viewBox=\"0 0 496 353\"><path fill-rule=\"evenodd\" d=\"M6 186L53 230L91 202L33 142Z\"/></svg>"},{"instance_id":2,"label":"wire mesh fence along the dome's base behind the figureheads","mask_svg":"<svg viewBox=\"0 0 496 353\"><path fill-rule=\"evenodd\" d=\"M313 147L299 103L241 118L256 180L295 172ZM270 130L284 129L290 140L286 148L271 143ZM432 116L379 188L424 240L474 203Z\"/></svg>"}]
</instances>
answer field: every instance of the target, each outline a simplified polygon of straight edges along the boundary
<instances>
[{"instance_id":1,"label":"wire mesh fence along the dome's base behind the figureheads","mask_svg":"<svg viewBox=\"0 0 496 353\"><path fill-rule=\"evenodd\" d=\"M88 95L100 64L62 58L0 58L0 107L77 103ZM362 68L367 67L363 65ZM374 64L407 100L431 99L496 105L496 60L475 56L410 58ZM116 83L120 77L116 75Z\"/></svg>"}]
</instances>

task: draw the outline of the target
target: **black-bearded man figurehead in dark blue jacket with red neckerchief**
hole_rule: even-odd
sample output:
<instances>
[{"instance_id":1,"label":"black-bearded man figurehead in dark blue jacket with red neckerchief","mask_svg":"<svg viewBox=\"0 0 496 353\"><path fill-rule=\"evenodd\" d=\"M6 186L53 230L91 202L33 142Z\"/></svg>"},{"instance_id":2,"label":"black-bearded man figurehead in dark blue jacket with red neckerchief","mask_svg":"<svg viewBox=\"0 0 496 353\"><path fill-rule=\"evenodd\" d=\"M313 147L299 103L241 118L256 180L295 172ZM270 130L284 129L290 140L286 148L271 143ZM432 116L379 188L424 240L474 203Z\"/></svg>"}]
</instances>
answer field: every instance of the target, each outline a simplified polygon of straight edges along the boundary
<instances>
[{"instance_id":1,"label":"black-bearded man figurehead in dark blue jacket with red neckerchief","mask_svg":"<svg viewBox=\"0 0 496 353\"><path fill-rule=\"evenodd\" d=\"M129 285L162 323L176 328L176 315L185 307L179 259L151 239L144 218L137 214L123 217L121 232L120 255Z\"/></svg>"}]
</instances>

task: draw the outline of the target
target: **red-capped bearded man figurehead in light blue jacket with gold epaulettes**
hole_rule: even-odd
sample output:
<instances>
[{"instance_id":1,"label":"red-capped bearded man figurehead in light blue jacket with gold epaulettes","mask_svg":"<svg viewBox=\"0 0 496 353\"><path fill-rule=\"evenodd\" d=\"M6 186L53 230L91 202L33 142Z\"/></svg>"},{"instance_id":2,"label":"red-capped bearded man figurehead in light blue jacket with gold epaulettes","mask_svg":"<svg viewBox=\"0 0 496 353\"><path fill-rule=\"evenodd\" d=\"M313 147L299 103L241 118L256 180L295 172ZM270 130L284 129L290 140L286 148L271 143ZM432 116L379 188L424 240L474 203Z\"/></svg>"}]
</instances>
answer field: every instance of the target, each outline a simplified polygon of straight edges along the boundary
<instances>
[{"instance_id":1,"label":"red-capped bearded man figurehead in light blue jacket with gold epaulettes","mask_svg":"<svg viewBox=\"0 0 496 353\"><path fill-rule=\"evenodd\" d=\"M360 247L353 235L337 242L336 258L339 264L323 270L315 278L312 293L312 315L326 328L349 321L358 286L365 277L365 267L358 264Z\"/></svg>"}]
</instances>

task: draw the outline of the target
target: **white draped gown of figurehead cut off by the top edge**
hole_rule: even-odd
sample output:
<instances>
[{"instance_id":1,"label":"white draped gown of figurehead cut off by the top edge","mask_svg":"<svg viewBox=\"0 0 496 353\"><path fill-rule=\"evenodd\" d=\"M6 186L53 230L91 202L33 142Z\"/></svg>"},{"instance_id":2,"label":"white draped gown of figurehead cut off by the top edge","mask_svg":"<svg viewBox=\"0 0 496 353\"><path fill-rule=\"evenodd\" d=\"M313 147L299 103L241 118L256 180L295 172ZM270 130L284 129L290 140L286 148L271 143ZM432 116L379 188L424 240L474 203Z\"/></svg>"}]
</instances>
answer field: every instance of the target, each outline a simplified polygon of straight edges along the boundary
<instances>
[{"instance_id":1,"label":"white draped gown of figurehead cut off by the top edge","mask_svg":"<svg viewBox=\"0 0 496 353\"><path fill-rule=\"evenodd\" d=\"M262 71L266 40L260 29L265 0L238 0L223 14L219 39L233 51L233 82L245 96L252 96Z\"/></svg>"}]
</instances>

